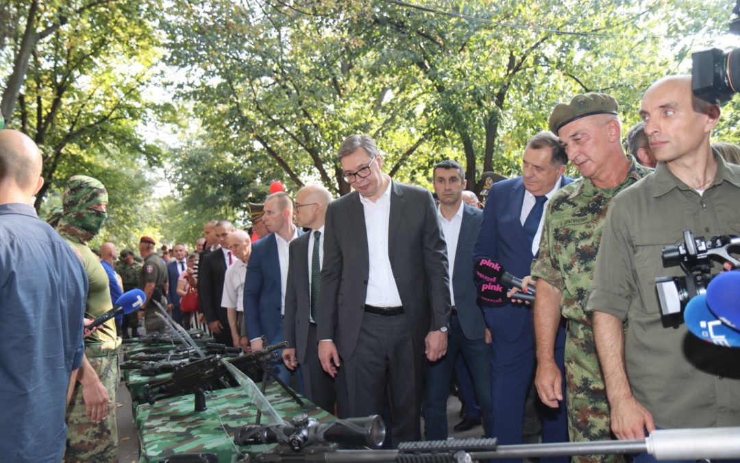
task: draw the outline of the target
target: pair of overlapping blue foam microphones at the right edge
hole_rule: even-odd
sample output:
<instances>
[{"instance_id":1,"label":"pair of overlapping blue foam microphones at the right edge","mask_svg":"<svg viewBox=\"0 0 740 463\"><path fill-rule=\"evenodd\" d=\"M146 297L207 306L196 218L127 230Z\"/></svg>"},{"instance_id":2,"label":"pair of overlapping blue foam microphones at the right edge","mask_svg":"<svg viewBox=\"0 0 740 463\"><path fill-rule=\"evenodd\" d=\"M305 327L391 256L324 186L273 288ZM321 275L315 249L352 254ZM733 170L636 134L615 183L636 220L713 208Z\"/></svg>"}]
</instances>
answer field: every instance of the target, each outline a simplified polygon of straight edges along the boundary
<instances>
[{"instance_id":1,"label":"pair of overlapping blue foam microphones at the right edge","mask_svg":"<svg viewBox=\"0 0 740 463\"><path fill-rule=\"evenodd\" d=\"M740 270L720 273L706 294L694 296L684 310L684 322L694 336L718 346L740 347Z\"/></svg>"}]
</instances>

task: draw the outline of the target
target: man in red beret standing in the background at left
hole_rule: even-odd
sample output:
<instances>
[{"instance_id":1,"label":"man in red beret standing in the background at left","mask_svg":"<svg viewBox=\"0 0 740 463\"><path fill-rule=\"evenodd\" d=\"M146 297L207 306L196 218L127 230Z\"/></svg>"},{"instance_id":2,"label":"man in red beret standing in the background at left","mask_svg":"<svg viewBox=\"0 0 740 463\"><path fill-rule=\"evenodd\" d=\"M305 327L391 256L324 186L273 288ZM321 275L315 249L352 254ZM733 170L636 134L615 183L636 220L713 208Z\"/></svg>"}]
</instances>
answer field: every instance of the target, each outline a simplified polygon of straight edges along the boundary
<instances>
[{"instance_id":1,"label":"man in red beret standing in the background at left","mask_svg":"<svg viewBox=\"0 0 740 463\"><path fill-rule=\"evenodd\" d=\"M154 252L154 239L142 236L139 241L139 253L144 257L144 265L138 276L138 287L147 294L144 304L144 327L147 333L164 333L164 322L157 313L157 306L152 300L166 307L164 285L167 283L167 267L164 261Z\"/></svg>"}]
</instances>

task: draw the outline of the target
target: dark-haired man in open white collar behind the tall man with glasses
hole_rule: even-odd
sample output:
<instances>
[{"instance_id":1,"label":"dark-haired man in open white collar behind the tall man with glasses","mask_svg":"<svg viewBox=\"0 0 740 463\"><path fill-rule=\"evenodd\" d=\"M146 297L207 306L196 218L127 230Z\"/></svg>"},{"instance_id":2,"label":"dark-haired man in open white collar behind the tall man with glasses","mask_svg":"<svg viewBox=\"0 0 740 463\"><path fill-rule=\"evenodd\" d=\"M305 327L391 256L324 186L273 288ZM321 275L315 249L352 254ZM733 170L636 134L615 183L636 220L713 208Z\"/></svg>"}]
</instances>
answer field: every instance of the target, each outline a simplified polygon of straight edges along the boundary
<instances>
[{"instance_id":1,"label":"dark-haired man in open white collar behind the tall man with glasses","mask_svg":"<svg viewBox=\"0 0 740 463\"><path fill-rule=\"evenodd\" d=\"M462 202L465 185L465 172L457 162L442 161L434 166L434 193L440 200L437 216L450 262L452 313L447 353L437 362L428 362L426 370L423 416L427 440L447 439L447 398L455 358L460 352L471 371L486 433L491 425L490 356L485 344L483 313L476 302L472 265L473 245L483 214Z\"/></svg>"}]
</instances>

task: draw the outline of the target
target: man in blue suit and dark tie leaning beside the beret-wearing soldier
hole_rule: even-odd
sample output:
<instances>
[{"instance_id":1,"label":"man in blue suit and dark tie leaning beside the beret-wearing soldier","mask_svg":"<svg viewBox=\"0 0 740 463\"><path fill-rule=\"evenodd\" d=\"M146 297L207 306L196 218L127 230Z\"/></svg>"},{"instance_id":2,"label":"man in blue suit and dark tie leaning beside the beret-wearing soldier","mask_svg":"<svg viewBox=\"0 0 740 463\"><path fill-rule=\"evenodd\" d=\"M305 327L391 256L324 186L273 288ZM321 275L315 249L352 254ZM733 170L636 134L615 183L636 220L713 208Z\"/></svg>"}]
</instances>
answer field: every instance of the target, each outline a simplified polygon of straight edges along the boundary
<instances>
[{"instance_id":1,"label":"man in blue suit and dark tie leaning beside the beret-wearing soldier","mask_svg":"<svg viewBox=\"0 0 740 463\"><path fill-rule=\"evenodd\" d=\"M532 137L524 150L523 176L499 181L488 191L483 222L474 257L489 257L508 273L522 278L539 248L545 206L555 192L571 179L563 176L568 157L559 140L543 131ZM525 400L534 380L534 327L528 305L505 303L485 307L485 323L491 330L491 393L493 425L491 435L501 444L522 443ZM556 363L563 367L564 325L556 343ZM562 375L565 382L565 373ZM565 390L565 384L563 384ZM542 442L568 440L565 404L557 410L539 407ZM511 459L521 462L521 459ZM568 462L568 458L550 462Z\"/></svg>"}]
</instances>

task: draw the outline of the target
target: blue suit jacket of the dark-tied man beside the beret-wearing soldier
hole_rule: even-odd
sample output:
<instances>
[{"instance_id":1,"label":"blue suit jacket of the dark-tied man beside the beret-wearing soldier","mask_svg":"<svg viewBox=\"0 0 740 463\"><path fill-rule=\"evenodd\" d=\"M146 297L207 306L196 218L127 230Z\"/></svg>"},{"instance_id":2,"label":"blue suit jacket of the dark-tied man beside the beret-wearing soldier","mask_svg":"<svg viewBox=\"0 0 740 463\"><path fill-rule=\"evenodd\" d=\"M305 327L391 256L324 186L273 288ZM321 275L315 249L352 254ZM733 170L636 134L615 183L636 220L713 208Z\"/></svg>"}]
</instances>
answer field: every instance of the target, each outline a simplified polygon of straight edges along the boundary
<instances>
[{"instance_id":1,"label":"blue suit jacket of the dark-tied man beside the beret-wearing soldier","mask_svg":"<svg viewBox=\"0 0 740 463\"><path fill-rule=\"evenodd\" d=\"M561 187L572 179L562 177ZM488 190L488 199L483 210L483 222L475 245L474 259L490 257L501 264L511 275L522 278L529 275L534 255L519 216L524 201L522 177L499 181ZM531 316L531 308L505 303L494 309L497 323L505 329L498 336L513 342L522 333L525 321Z\"/></svg>"}]
</instances>

